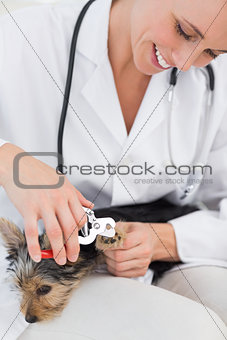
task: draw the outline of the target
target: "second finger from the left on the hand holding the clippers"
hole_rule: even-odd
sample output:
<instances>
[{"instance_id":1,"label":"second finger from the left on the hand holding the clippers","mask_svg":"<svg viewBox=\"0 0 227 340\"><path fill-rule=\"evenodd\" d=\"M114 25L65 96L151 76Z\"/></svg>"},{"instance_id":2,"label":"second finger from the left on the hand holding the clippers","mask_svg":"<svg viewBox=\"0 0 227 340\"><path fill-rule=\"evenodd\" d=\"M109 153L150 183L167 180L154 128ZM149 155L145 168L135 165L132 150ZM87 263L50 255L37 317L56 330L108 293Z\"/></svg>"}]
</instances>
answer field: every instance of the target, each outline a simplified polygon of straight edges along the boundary
<instances>
[{"instance_id":1,"label":"second finger from the left on the hand holding the clippers","mask_svg":"<svg viewBox=\"0 0 227 340\"><path fill-rule=\"evenodd\" d=\"M64 246L62 229L59 225L56 215L53 211L46 212L45 217L42 217L48 239L53 251L53 257L59 265L66 263L66 250Z\"/></svg>"}]
</instances>

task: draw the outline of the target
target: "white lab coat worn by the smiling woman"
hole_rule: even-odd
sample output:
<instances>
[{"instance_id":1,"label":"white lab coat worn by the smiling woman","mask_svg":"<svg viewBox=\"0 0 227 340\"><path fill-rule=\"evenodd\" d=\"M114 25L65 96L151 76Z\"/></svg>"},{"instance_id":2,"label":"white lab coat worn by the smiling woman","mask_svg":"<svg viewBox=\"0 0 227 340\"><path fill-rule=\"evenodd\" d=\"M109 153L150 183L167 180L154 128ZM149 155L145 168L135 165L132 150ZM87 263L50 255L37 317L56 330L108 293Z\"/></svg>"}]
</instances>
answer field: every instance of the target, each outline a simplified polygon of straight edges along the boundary
<instances>
[{"instance_id":1,"label":"white lab coat worn by the smiling woman","mask_svg":"<svg viewBox=\"0 0 227 340\"><path fill-rule=\"evenodd\" d=\"M28 152L57 152L57 133L66 81L73 28L85 4L43 5L20 9L0 19L0 137ZM151 78L129 136L122 116L111 65L107 36L111 0L97 0L89 8L78 39L70 107L64 132L66 165L154 165L156 175L84 175L73 170L69 180L95 207L150 202L166 197L182 205L202 201L209 210L171 220L180 258L189 265L227 267L227 58L213 62L216 91L203 155L213 175L203 179L193 194L182 191L164 174L171 150L176 165L194 160L207 114L206 74L197 68L181 73L171 106L170 71ZM16 22L16 24L15 24ZM20 29L18 29L18 27ZM168 117L172 107L171 127ZM152 113L152 114L151 114ZM41 157L56 167L55 157ZM123 168L121 168L123 171ZM162 173L161 175L159 173ZM185 180L185 176L181 176ZM174 177L175 178L175 177ZM141 180L160 180L145 184ZM140 180L135 183L135 180ZM23 227L23 220L3 189L0 216ZM13 337L12 337L13 338Z\"/></svg>"}]
</instances>

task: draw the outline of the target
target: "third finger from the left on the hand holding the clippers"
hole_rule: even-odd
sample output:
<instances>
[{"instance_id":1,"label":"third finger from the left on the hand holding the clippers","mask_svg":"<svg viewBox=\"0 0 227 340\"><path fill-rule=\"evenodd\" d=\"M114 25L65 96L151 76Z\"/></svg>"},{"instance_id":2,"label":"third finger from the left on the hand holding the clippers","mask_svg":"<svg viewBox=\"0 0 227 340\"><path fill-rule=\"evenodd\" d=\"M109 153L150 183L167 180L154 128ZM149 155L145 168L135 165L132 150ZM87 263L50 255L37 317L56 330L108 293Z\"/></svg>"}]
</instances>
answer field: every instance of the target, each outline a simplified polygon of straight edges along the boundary
<instances>
[{"instance_id":1,"label":"third finger from the left on the hand holding the clippers","mask_svg":"<svg viewBox=\"0 0 227 340\"><path fill-rule=\"evenodd\" d=\"M78 227L69 206L61 207L57 212L57 217L65 238L67 258L71 262L76 262L80 252Z\"/></svg>"}]
</instances>

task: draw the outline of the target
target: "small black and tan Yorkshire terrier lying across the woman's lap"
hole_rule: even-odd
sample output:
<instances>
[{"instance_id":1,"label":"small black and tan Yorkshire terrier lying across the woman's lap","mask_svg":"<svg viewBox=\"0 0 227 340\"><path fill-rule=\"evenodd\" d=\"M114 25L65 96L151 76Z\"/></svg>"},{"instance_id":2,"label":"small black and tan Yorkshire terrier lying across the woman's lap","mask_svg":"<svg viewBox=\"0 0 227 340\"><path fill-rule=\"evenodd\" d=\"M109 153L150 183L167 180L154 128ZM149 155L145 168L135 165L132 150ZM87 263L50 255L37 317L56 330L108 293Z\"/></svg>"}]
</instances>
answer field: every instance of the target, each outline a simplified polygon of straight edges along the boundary
<instances>
[{"instance_id":1,"label":"small black and tan Yorkshire terrier lying across the woman's lap","mask_svg":"<svg viewBox=\"0 0 227 340\"><path fill-rule=\"evenodd\" d=\"M156 202L111 207L95 210L96 217L112 217L117 221L166 222L172 218L198 210L197 207L179 207L161 199ZM22 293L21 311L29 323L46 321L60 315L68 303L73 289L88 275L97 263L102 263L102 252L107 248L122 247L126 234L116 225L112 238L98 235L90 245L80 245L79 258L75 263L58 265L54 259L34 262L28 253L25 234L15 224L0 219L0 234L8 251L7 271L12 274L16 288ZM43 234L39 236L42 250L50 249ZM150 264L154 279L158 279L176 263L155 261Z\"/></svg>"}]
</instances>

